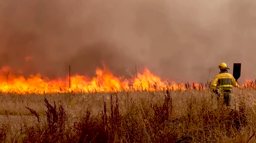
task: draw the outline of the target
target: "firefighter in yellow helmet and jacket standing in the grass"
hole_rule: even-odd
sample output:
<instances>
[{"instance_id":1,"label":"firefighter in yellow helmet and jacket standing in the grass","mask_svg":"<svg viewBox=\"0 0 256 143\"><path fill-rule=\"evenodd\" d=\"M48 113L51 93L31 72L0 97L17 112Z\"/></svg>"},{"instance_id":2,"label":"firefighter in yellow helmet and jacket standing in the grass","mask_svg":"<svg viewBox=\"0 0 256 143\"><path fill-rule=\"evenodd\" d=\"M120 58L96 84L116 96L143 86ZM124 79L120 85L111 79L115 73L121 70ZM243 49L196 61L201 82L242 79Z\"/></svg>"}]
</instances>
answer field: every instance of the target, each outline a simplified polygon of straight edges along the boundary
<instances>
[{"instance_id":1,"label":"firefighter in yellow helmet and jacket standing in the grass","mask_svg":"<svg viewBox=\"0 0 256 143\"><path fill-rule=\"evenodd\" d=\"M231 107L231 89L232 86L237 86L237 81L235 81L233 75L228 73L229 68L227 64L221 63L218 68L221 71L211 84L212 92L218 94L218 98L220 97L220 94L222 94L224 96L225 105Z\"/></svg>"}]
</instances>

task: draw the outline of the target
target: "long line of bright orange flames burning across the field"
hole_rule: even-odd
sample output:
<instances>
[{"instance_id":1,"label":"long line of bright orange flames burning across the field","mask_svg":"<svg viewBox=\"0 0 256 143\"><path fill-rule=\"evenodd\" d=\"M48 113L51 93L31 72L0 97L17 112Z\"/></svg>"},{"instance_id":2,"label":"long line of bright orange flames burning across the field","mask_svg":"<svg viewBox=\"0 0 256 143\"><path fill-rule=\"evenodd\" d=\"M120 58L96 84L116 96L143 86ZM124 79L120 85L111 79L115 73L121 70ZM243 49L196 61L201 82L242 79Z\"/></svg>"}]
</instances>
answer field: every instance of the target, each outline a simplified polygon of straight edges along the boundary
<instances>
[{"instance_id":1,"label":"long line of bright orange flames burning across the field","mask_svg":"<svg viewBox=\"0 0 256 143\"><path fill-rule=\"evenodd\" d=\"M40 74L31 75L25 79L23 76L15 76L9 74L10 68L3 67L0 74L0 92L4 93L35 93L35 94L46 94L46 93L66 93L66 92L120 92L122 90L187 90L187 89L206 89L207 85L198 83L182 83L177 84L175 82L168 83L162 81L159 76L154 75L145 68L144 72L138 73L137 77L127 80L121 79L121 77L115 77L109 70L96 69L96 76L90 79L87 76L75 75L71 76L71 87L69 88L69 76L66 79L54 79L49 80L42 78ZM247 81L247 85L239 86L243 87L256 87L256 85ZM209 87L209 86L208 86Z\"/></svg>"}]
</instances>

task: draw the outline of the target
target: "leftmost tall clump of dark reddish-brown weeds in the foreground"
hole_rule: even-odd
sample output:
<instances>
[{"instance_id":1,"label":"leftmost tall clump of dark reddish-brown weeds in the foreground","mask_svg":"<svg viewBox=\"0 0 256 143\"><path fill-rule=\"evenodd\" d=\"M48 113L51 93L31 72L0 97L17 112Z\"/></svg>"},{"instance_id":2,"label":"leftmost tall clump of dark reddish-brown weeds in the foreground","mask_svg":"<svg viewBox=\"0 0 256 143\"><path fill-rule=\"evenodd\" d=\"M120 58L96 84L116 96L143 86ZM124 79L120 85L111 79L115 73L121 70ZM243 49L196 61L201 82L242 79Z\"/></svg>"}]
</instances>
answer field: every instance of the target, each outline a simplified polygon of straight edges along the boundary
<instances>
[{"instance_id":1,"label":"leftmost tall clump of dark reddish-brown weeds in the foreground","mask_svg":"<svg viewBox=\"0 0 256 143\"><path fill-rule=\"evenodd\" d=\"M52 106L45 98L45 106L47 107L47 125L41 125L38 114L29 109L32 114L38 118L39 124L32 127L26 127L26 136L23 142L63 142L65 140L65 122L66 111L62 105L57 108L55 102Z\"/></svg>"}]
</instances>

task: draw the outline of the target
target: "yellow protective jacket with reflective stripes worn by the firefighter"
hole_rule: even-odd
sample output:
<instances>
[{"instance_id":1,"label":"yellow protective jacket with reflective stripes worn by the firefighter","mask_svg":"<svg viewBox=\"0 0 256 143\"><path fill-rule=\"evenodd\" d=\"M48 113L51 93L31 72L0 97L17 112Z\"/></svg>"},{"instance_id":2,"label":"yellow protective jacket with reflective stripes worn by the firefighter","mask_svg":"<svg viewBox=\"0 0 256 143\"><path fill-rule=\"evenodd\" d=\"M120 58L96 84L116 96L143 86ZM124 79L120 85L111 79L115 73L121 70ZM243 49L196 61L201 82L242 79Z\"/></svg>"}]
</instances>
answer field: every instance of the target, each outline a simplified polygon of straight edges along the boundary
<instances>
[{"instance_id":1,"label":"yellow protective jacket with reflective stripes worn by the firefighter","mask_svg":"<svg viewBox=\"0 0 256 143\"><path fill-rule=\"evenodd\" d=\"M234 87L237 86L233 75L229 73L220 73L215 77L214 81L212 81L211 87L212 89L216 89L217 87L220 90L231 90L232 85Z\"/></svg>"}]
</instances>

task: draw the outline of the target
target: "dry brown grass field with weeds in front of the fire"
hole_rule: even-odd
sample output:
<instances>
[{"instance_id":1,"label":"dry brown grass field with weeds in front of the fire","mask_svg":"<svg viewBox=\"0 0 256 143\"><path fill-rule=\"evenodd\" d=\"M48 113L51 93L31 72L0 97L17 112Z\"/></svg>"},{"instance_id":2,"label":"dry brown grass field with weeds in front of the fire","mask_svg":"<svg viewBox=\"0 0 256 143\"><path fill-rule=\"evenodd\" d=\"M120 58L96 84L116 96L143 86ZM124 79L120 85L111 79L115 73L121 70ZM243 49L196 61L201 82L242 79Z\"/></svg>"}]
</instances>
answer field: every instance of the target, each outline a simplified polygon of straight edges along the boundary
<instances>
[{"instance_id":1,"label":"dry brown grass field with weeds in front of the fire","mask_svg":"<svg viewBox=\"0 0 256 143\"><path fill-rule=\"evenodd\" d=\"M255 142L255 89L0 95L0 142Z\"/></svg>"}]
</instances>

